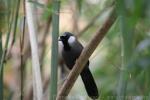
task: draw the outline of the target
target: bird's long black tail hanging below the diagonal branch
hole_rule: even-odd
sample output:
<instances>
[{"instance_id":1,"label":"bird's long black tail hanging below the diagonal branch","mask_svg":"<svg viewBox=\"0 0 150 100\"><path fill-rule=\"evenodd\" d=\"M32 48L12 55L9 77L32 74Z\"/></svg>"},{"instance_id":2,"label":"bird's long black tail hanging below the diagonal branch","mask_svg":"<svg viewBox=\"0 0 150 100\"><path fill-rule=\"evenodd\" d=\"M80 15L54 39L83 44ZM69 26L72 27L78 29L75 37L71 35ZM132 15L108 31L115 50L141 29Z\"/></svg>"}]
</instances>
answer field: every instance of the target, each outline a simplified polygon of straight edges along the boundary
<instances>
[{"instance_id":1,"label":"bird's long black tail hanging below the diagonal branch","mask_svg":"<svg viewBox=\"0 0 150 100\"><path fill-rule=\"evenodd\" d=\"M83 80L88 96L92 99L97 99L99 97L98 89L92 73L90 72L90 69L88 67L85 67L81 72L81 78Z\"/></svg>"}]
</instances>

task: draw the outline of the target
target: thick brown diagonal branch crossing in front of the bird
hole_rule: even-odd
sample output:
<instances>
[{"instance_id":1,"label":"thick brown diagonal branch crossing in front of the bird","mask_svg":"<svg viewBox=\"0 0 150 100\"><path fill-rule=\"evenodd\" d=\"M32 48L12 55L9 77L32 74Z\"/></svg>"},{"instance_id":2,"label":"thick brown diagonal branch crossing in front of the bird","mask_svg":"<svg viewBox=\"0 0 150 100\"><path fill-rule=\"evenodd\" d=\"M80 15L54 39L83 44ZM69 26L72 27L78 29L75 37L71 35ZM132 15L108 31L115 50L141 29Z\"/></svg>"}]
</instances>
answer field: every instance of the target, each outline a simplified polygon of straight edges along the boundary
<instances>
[{"instance_id":1,"label":"thick brown diagonal branch crossing in front of the bird","mask_svg":"<svg viewBox=\"0 0 150 100\"><path fill-rule=\"evenodd\" d=\"M83 49L79 59L76 61L76 64L74 65L73 69L69 73L66 81L62 85L56 100L64 100L66 96L69 94L72 86L74 85L77 77L81 73L84 65L88 61L89 57L92 55L98 44L101 42L101 40L104 38L110 27L113 25L113 23L116 20L116 11L115 7L113 7L110 16L103 24L102 28L100 28L95 36L91 39L89 44Z\"/></svg>"}]
</instances>

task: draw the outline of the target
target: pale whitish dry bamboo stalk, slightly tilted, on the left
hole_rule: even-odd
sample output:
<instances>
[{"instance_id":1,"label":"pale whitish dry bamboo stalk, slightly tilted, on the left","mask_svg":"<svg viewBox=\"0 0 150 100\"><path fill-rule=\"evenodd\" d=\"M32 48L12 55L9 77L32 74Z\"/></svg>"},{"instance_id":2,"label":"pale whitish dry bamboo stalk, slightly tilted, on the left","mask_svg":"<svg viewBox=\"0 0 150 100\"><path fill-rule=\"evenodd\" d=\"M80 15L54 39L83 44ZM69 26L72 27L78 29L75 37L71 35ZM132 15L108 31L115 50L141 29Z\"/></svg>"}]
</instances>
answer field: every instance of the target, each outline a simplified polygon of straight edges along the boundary
<instances>
[{"instance_id":1,"label":"pale whitish dry bamboo stalk, slightly tilted, on the left","mask_svg":"<svg viewBox=\"0 0 150 100\"><path fill-rule=\"evenodd\" d=\"M42 100L43 89L41 81L41 72L39 64L38 55L38 45L37 45L37 26L35 24L35 14L33 14L33 5L26 0L26 17L29 29L29 38L31 44L31 54L32 54L32 72L33 72L33 94L34 100Z\"/></svg>"}]
</instances>

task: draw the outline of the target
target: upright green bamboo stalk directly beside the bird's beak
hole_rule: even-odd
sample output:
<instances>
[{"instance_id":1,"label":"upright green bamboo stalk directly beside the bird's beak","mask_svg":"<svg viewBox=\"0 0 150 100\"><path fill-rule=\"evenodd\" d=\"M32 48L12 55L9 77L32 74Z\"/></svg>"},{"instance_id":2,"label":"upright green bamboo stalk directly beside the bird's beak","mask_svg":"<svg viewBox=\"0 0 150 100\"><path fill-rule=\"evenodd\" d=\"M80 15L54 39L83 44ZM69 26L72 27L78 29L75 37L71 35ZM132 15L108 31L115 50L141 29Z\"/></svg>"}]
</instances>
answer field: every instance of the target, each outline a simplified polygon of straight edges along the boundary
<instances>
[{"instance_id":1,"label":"upright green bamboo stalk directly beside the bird's beak","mask_svg":"<svg viewBox=\"0 0 150 100\"><path fill-rule=\"evenodd\" d=\"M50 100L56 100L57 95L57 67L58 67L58 35L59 35L59 6L60 1L52 1L52 52L51 52L51 84Z\"/></svg>"}]
</instances>

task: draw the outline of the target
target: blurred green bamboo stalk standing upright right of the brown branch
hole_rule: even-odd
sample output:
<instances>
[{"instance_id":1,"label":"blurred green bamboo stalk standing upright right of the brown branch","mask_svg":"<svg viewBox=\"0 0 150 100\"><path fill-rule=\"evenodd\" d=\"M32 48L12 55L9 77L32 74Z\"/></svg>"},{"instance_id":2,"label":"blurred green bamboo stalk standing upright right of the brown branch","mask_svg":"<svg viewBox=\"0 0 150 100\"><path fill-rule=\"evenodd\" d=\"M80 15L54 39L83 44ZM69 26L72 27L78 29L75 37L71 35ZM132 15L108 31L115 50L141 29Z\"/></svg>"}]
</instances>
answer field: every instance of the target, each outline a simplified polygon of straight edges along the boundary
<instances>
[{"instance_id":1,"label":"blurred green bamboo stalk standing upright right of the brown branch","mask_svg":"<svg viewBox=\"0 0 150 100\"><path fill-rule=\"evenodd\" d=\"M133 33L129 32L129 27L127 27L125 0L118 0L117 6L121 28L121 70L117 88L117 100L125 100L127 81L129 77L127 68L132 55Z\"/></svg>"}]
</instances>

